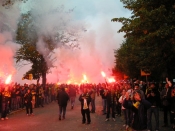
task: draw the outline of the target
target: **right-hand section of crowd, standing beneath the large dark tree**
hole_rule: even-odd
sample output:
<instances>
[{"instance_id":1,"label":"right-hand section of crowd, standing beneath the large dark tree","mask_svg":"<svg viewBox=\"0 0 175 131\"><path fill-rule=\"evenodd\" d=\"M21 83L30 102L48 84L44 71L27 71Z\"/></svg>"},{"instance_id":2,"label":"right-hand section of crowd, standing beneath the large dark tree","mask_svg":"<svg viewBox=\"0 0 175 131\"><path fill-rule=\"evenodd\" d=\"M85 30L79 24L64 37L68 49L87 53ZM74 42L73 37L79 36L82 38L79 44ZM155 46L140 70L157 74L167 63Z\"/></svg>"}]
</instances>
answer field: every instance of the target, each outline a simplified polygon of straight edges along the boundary
<instances>
[{"instance_id":1,"label":"right-hand section of crowd, standing beneath the large dark tree","mask_svg":"<svg viewBox=\"0 0 175 131\"><path fill-rule=\"evenodd\" d=\"M163 87L163 88L162 88ZM153 131L152 114L155 117L155 131L159 131L159 111L163 111L164 125L171 124L175 130L175 86L166 81L164 86L155 82L143 83L135 81L130 83L103 86L100 90L103 102L103 114L109 121L110 114L113 121L115 116L123 114L126 130L131 127L133 131ZM169 119L168 119L169 117Z\"/></svg>"}]
</instances>

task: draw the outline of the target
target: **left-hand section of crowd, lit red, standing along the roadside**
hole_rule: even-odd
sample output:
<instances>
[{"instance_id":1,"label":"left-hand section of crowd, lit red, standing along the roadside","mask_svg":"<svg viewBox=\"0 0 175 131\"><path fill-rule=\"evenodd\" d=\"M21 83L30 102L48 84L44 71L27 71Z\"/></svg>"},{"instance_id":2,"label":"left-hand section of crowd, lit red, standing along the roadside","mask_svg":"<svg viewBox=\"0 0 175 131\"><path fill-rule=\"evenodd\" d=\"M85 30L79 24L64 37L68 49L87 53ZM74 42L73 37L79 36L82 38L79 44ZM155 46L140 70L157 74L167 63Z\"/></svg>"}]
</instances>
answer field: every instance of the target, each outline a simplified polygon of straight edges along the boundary
<instances>
[{"instance_id":1,"label":"left-hand section of crowd, lit red, standing along the roadside","mask_svg":"<svg viewBox=\"0 0 175 131\"><path fill-rule=\"evenodd\" d=\"M38 84L0 85L1 120L8 119L10 112L26 109L26 115L33 115L33 108L44 107L56 100L57 90L54 84L47 84L45 89Z\"/></svg>"}]
</instances>

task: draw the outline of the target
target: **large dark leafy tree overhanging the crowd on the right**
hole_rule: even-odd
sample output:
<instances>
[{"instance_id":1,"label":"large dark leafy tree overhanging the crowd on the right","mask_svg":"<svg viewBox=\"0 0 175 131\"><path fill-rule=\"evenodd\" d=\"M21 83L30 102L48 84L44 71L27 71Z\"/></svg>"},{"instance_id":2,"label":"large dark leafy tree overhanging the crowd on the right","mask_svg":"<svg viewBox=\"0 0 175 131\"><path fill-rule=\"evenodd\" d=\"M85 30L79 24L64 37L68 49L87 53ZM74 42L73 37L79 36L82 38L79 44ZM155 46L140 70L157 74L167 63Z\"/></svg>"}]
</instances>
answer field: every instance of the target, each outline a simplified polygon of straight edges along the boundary
<instances>
[{"instance_id":1,"label":"large dark leafy tree overhanging the crowd on the right","mask_svg":"<svg viewBox=\"0 0 175 131\"><path fill-rule=\"evenodd\" d=\"M125 64L134 61L137 69L159 74L166 72L172 78L175 71L175 2L173 0L121 0L124 7L132 11L130 18L114 18L123 24L119 32L125 33L126 43L116 51L123 57L122 50L129 46ZM128 41L129 39L129 41ZM131 57L132 56L132 57ZM116 58L117 63L122 58ZM130 63L132 65L132 63ZM129 66L131 66L129 65ZM129 67L127 68L129 69Z\"/></svg>"}]
</instances>

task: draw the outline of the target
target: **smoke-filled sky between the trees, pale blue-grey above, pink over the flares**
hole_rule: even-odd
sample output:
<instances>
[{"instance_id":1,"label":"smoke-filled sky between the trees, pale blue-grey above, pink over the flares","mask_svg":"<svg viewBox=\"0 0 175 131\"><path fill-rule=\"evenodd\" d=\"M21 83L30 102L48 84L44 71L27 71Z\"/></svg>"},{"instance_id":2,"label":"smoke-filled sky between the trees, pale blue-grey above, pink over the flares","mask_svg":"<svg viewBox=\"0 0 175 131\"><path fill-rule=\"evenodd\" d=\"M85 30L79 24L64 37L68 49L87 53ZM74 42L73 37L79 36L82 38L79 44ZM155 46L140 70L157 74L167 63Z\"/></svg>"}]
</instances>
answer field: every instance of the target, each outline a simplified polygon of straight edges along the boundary
<instances>
[{"instance_id":1,"label":"smoke-filled sky between the trees, pale blue-grey above, pink over the flares","mask_svg":"<svg viewBox=\"0 0 175 131\"><path fill-rule=\"evenodd\" d=\"M8 54L6 55L8 61L3 59L0 67L2 69L3 63L9 63L6 68L12 68L11 70L16 73L14 81L18 83L28 82L22 81L21 78L31 66L15 70L13 56L19 46L15 43L14 34L20 13L31 12L37 34L41 36L37 42L40 53L44 53L43 35L55 36L57 31L63 30L77 33L79 48L62 47L61 42L57 42L59 48L55 49L54 57L57 58L54 62L55 68L52 68L51 73L47 75L48 82L64 83L68 81L79 83L83 75L87 76L89 82L104 82L101 71L104 71L107 76L111 75L111 69L115 65L114 50L120 47L123 40L123 34L117 33L121 24L113 23L111 19L130 15L130 12L115 0L107 4L105 0L100 3L93 0L76 0L76 2L73 0L42 0L42 2L28 0L26 3L13 5L8 9L7 14L4 10L0 10L5 17L5 19L0 18L0 28L2 29L4 23L7 23L10 30L0 34L0 46L2 47L0 50L4 51L0 53ZM4 44L8 40L10 40L9 44ZM50 64L49 61L48 64Z\"/></svg>"}]
</instances>

